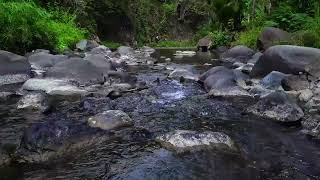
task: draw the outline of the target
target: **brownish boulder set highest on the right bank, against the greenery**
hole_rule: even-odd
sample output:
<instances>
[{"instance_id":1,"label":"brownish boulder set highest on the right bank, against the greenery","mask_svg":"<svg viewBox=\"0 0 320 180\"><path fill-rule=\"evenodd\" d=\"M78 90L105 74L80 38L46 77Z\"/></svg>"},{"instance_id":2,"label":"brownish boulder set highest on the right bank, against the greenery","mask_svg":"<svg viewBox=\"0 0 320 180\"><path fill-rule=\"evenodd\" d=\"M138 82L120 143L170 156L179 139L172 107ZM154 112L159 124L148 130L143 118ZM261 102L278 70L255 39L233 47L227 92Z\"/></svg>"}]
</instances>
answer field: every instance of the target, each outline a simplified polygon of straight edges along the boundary
<instances>
[{"instance_id":1,"label":"brownish boulder set highest on the right bank, against the greenery","mask_svg":"<svg viewBox=\"0 0 320 180\"><path fill-rule=\"evenodd\" d=\"M259 50L265 51L269 47L279 44L282 41L289 41L290 34L274 27L266 27L262 30L257 41L257 47Z\"/></svg>"}]
</instances>

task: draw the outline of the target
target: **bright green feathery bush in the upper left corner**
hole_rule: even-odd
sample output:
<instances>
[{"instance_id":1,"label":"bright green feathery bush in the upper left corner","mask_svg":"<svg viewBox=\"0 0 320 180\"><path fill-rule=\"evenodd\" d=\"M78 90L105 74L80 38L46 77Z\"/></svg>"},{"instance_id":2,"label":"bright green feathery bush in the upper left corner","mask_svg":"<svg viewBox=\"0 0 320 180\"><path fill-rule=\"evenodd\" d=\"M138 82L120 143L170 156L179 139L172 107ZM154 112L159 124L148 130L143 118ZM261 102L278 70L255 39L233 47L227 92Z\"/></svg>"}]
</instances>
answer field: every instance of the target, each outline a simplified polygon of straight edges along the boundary
<instances>
[{"instance_id":1,"label":"bright green feathery bush in the upper left corner","mask_svg":"<svg viewBox=\"0 0 320 180\"><path fill-rule=\"evenodd\" d=\"M63 51L84 38L74 16L64 14L63 21L32 2L0 1L0 48L25 53L37 48Z\"/></svg>"}]
</instances>

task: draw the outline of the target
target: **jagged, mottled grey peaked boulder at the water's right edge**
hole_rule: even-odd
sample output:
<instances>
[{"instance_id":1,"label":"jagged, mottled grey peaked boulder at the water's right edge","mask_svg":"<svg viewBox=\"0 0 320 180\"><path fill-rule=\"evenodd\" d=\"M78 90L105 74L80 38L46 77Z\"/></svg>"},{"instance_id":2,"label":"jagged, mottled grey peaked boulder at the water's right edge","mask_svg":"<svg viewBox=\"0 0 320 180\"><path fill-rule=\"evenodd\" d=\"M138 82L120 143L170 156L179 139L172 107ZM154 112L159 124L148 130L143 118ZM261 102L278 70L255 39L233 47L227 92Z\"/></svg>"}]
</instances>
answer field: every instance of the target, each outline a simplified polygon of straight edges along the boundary
<instances>
[{"instance_id":1,"label":"jagged, mottled grey peaked boulder at the water's right edge","mask_svg":"<svg viewBox=\"0 0 320 180\"><path fill-rule=\"evenodd\" d=\"M255 105L248 108L248 112L279 122L295 122L304 116L302 109L283 91L262 96Z\"/></svg>"}]
</instances>

